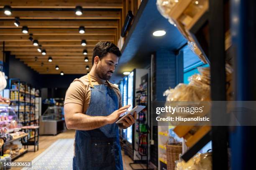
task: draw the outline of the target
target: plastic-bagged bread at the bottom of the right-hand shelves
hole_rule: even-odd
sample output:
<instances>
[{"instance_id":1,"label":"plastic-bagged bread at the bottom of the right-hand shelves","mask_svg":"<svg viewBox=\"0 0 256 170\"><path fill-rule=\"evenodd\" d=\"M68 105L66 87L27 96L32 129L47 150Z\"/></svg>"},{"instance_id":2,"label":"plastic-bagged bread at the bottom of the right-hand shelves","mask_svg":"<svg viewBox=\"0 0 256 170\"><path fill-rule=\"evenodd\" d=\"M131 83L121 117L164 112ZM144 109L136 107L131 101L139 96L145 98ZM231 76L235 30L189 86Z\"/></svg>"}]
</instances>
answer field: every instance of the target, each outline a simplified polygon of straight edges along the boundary
<instances>
[{"instance_id":1,"label":"plastic-bagged bread at the bottom of the right-hand shelves","mask_svg":"<svg viewBox=\"0 0 256 170\"><path fill-rule=\"evenodd\" d=\"M187 163L180 158L176 162L175 170L212 170L212 153L198 153Z\"/></svg>"}]
</instances>

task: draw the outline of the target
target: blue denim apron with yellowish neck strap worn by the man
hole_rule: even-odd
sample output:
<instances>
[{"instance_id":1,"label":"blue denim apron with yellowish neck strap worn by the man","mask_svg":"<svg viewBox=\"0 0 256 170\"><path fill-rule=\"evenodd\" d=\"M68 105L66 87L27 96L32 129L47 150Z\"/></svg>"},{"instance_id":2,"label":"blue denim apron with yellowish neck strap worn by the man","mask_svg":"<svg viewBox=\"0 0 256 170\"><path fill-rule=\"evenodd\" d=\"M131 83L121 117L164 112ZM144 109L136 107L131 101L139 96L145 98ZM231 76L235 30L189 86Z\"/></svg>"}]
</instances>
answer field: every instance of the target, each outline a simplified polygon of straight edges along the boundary
<instances>
[{"instance_id":1,"label":"blue denim apron with yellowish neck strap worn by the man","mask_svg":"<svg viewBox=\"0 0 256 170\"><path fill-rule=\"evenodd\" d=\"M93 85L88 74L91 99L86 115L108 116L118 110L118 97L108 86ZM76 130L73 170L123 170L118 125L94 130Z\"/></svg>"}]
</instances>

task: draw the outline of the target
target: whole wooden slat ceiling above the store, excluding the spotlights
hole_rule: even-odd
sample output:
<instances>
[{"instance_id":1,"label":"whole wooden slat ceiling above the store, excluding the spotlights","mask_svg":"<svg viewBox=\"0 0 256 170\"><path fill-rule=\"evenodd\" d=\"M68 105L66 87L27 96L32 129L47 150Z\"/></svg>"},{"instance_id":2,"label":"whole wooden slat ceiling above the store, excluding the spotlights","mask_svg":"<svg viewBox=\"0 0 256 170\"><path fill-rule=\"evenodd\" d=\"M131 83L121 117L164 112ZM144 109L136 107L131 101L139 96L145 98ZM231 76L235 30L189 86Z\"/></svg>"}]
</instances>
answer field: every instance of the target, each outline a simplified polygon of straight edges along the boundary
<instances>
[{"instance_id":1,"label":"whole wooden slat ceiling above the store, excluding the spotlights","mask_svg":"<svg viewBox=\"0 0 256 170\"><path fill-rule=\"evenodd\" d=\"M5 43L5 51L23 61L40 74L86 74L91 68L92 50L98 41L117 44L123 24L125 0L1 0L0 1L0 47ZM12 15L3 13L3 7L10 5ZM74 8L83 7L83 14L75 15ZM14 25L19 17L20 26ZM28 34L21 28L28 27ZM78 28L85 27L79 34ZM28 39L29 34L38 40L46 55L37 51ZM83 47L81 40L86 40ZM88 54L82 51L87 49ZM48 62L48 57L53 58ZM89 62L84 62L84 57ZM55 66L59 70L55 70Z\"/></svg>"}]
</instances>

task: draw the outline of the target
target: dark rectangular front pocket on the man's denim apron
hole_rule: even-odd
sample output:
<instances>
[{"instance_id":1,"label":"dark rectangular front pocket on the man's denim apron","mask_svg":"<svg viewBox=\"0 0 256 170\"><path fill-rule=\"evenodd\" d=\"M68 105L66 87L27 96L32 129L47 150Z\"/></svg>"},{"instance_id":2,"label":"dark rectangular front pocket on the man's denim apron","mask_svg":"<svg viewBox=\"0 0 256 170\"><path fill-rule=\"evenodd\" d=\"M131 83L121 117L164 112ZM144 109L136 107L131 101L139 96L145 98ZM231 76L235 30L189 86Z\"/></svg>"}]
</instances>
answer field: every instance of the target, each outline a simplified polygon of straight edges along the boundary
<instances>
[{"instance_id":1,"label":"dark rectangular front pocket on the man's denim apron","mask_svg":"<svg viewBox=\"0 0 256 170\"><path fill-rule=\"evenodd\" d=\"M115 165L115 138L97 138L91 140L92 167L108 167Z\"/></svg>"}]
</instances>

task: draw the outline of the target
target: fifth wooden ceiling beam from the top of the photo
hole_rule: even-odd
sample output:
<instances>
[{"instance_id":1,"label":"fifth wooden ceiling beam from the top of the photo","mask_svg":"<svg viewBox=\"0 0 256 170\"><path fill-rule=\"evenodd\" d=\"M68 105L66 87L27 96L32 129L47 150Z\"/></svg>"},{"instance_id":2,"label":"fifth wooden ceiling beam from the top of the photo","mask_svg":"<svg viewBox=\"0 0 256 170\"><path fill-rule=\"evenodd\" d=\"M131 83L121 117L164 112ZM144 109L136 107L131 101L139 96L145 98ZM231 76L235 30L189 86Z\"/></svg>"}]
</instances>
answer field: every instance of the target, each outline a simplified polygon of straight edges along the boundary
<instances>
[{"instance_id":1,"label":"fifth wooden ceiling beam from the top of the photo","mask_svg":"<svg viewBox=\"0 0 256 170\"><path fill-rule=\"evenodd\" d=\"M28 35L2 35L0 36L0 41L30 41L28 39ZM38 40L40 42L44 41L78 41L81 42L81 40L94 40L94 41L114 41L115 36L113 35L35 35L33 36L34 40Z\"/></svg>"}]
</instances>

